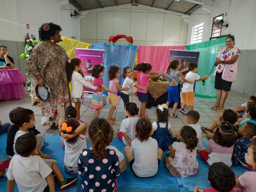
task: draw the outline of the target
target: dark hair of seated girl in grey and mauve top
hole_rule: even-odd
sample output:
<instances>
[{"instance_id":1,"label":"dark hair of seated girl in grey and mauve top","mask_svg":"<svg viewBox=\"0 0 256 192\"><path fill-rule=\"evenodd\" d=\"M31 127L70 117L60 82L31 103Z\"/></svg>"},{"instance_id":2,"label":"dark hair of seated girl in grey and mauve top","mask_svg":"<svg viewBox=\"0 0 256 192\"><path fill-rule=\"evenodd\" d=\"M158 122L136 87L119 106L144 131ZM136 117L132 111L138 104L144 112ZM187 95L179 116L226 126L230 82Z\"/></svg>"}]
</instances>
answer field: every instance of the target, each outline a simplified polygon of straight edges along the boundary
<instances>
[{"instance_id":1,"label":"dark hair of seated girl in grey and mauve top","mask_svg":"<svg viewBox=\"0 0 256 192\"><path fill-rule=\"evenodd\" d=\"M212 139L222 147L231 147L235 142L234 128L227 121L218 125Z\"/></svg>"}]
</instances>

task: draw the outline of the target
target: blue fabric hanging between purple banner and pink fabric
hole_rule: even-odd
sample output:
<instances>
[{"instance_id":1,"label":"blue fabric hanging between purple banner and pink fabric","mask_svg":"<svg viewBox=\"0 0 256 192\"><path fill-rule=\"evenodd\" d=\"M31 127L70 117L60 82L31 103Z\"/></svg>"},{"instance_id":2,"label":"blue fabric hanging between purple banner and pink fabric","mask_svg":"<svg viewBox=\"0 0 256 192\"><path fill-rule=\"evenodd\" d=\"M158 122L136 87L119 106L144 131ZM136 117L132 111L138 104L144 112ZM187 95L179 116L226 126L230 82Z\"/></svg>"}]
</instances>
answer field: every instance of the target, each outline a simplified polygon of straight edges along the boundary
<instances>
[{"instance_id":1,"label":"blue fabric hanging between purple banner and pink fabric","mask_svg":"<svg viewBox=\"0 0 256 192\"><path fill-rule=\"evenodd\" d=\"M126 46L126 45L108 45L106 42L92 44L94 49L104 49L104 67L105 74L103 76L104 85L109 87L108 70L110 66L118 66L120 68L120 77L118 78L120 86L122 86L124 79L123 68L129 66L133 69L136 58L137 46ZM118 91L119 92L119 91ZM103 94L108 94L105 90ZM119 93L118 93L119 94Z\"/></svg>"}]
</instances>

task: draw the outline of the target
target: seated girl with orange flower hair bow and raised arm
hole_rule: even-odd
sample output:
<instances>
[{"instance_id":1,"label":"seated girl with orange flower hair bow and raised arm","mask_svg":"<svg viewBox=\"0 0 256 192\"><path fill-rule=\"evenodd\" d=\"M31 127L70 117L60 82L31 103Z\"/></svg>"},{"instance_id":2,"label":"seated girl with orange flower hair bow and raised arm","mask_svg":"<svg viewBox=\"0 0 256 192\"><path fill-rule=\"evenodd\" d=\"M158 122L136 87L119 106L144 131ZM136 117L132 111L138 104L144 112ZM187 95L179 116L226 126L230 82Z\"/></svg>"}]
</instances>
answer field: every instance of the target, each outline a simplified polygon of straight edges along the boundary
<instances>
[{"instance_id":1,"label":"seated girl with orange flower hair bow and raised arm","mask_svg":"<svg viewBox=\"0 0 256 192\"><path fill-rule=\"evenodd\" d=\"M60 124L59 124L60 125ZM71 174L78 174L77 161L80 152L87 148L85 134L87 132L87 124L80 125L75 118L69 118L61 124L61 132L72 135L80 126L81 133L63 142L65 144L64 169Z\"/></svg>"}]
</instances>

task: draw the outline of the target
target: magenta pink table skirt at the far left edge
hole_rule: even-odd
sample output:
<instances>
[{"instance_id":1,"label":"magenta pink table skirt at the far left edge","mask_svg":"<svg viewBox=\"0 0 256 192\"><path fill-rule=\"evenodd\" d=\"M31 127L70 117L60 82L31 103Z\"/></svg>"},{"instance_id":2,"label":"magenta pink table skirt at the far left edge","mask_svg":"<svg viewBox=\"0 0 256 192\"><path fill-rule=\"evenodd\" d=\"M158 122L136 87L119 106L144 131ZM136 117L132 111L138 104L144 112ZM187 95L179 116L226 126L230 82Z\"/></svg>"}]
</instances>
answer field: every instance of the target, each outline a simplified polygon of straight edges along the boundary
<instances>
[{"instance_id":1,"label":"magenta pink table skirt at the far left edge","mask_svg":"<svg viewBox=\"0 0 256 192\"><path fill-rule=\"evenodd\" d=\"M26 78L20 70L0 70L0 99L8 100L25 97L23 82L26 82Z\"/></svg>"}]
</instances>

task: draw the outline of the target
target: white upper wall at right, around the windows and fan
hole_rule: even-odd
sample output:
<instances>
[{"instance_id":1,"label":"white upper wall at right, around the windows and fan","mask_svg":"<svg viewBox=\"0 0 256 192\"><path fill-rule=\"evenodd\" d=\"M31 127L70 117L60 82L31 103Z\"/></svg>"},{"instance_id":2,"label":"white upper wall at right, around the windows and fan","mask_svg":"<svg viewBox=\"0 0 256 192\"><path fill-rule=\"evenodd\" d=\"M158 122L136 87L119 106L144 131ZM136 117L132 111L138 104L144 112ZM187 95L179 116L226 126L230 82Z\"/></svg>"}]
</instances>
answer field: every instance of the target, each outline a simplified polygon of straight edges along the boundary
<instances>
[{"instance_id":1,"label":"white upper wall at right, around the windows and fan","mask_svg":"<svg viewBox=\"0 0 256 192\"><path fill-rule=\"evenodd\" d=\"M224 26L221 35L235 35L236 46L241 50L256 48L255 0L214 0L213 6L208 6L208 8L212 11L210 15L202 8L191 14L187 44L191 44L193 26L204 22L202 41L208 41L211 37L212 19L220 14L225 15L227 13L223 20L228 23L228 28Z\"/></svg>"}]
</instances>

